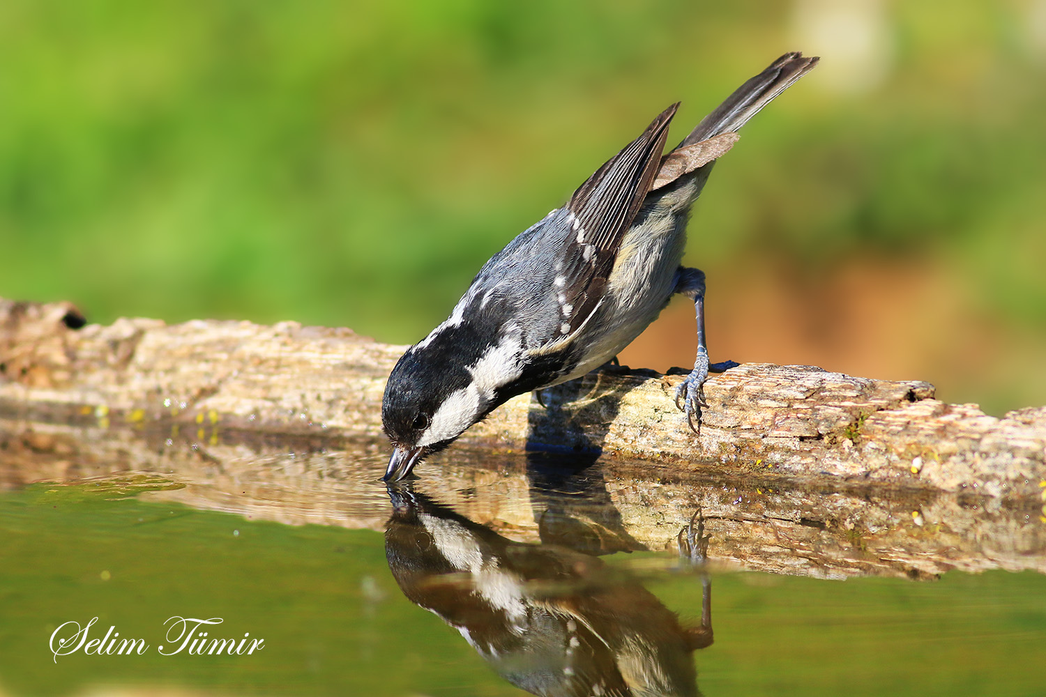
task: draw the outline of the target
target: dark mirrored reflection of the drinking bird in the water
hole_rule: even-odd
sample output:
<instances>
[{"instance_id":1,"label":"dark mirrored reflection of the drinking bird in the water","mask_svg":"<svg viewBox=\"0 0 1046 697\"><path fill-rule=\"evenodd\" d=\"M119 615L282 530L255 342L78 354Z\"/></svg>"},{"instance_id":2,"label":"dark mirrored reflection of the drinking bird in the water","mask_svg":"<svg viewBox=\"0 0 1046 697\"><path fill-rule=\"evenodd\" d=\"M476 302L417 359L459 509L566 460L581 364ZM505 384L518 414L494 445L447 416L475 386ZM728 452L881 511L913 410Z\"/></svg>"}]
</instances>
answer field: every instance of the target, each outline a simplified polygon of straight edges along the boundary
<instances>
[{"instance_id":1,"label":"dark mirrored reflection of the drinking bird in the water","mask_svg":"<svg viewBox=\"0 0 1046 697\"><path fill-rule=\"evenodd\" d=\"M701 622L688 625L636 578L587 553L591 539L584 551L564 535L555 544L515 542L409 482L389 495L385 551L404 595L516 687L542 696L699 694L692 653L712 643L707 575ZM687 562L704 561L700 520L680 532L679 547Z\"/></svg>"}]
</instances>

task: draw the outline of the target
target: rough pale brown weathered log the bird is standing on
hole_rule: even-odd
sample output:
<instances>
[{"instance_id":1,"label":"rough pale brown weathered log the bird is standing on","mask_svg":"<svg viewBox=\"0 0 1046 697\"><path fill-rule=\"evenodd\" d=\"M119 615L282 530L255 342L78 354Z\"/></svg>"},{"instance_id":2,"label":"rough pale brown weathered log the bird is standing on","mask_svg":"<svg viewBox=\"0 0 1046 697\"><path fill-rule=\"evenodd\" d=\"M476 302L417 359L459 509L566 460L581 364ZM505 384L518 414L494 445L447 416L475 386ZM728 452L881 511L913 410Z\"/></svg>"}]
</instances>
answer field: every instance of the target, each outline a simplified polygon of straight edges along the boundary
<instances>
[{"instance_id":1,"label":"rough pale brown weathered log the bird is standing on","mask_svg":"<svg viewBox=\"0 0 1046 697\"><path fill-rule=\"evenodd\" d=\"M0 300L0 418L376 439L385 377L405 349L296 323L81 323L66 303ZM1046 408L998 419L933 399L927 382L748 364L709 379L696 436L673 403L681 379L607 369L547 391L547 409L532 395L510 400L461 442L1004 497L1038 498L1046 478Z\"/></svg>"}]
</instances>

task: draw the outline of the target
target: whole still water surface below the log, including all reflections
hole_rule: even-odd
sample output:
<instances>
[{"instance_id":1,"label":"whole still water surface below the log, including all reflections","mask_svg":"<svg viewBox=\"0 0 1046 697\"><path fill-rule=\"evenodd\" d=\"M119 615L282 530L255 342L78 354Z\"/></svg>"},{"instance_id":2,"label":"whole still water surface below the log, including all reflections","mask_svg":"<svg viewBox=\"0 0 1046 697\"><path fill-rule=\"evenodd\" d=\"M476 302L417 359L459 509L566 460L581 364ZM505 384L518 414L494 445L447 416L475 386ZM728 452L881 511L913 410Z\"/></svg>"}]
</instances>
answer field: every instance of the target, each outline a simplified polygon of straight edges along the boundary
<instances>
[{"instance_id":1,"label":"whole still water surface below the log, including all reflections","mask_svg":"<svg viewBox=\"0 0 1046 697\"><path fill-rule=\"evenodd\" d=\"M1039 502L170 436L0 428L0 695L1046 695Z\"/></svg>"}]
</instances>

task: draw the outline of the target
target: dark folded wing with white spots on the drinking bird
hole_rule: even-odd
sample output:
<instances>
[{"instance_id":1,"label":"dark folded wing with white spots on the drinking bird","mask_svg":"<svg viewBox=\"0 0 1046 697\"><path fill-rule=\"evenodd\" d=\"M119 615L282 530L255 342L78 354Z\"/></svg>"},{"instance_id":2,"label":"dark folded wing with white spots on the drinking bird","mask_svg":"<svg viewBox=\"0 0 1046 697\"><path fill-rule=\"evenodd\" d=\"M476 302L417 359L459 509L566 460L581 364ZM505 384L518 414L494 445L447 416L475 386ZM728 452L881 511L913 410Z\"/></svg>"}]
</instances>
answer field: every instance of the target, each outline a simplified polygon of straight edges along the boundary
<instances>
[{"instance_id":1,"label":"dark folded wing with white spots on the drinking bird","mask_svg":"<svg viewBox=\"0 0 1046 697\"><path fill-rule=\"evenodd\" d=\"M668 123L679 103L661 112L634 141L607 161L567 203L568 232L555 261L559 335L589 319L606 292L617 251L657 175Z\"/></svg>"}]
</instances>

